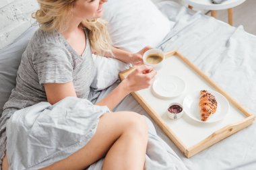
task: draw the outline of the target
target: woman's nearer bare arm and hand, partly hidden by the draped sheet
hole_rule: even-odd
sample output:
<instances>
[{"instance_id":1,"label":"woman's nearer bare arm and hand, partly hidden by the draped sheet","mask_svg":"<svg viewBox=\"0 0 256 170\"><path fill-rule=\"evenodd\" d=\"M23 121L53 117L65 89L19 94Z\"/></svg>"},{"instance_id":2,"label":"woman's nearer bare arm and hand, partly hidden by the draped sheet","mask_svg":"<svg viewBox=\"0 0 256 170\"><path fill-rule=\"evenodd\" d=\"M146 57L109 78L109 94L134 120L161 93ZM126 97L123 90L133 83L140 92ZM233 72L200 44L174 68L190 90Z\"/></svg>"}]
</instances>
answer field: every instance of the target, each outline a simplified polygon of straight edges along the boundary
<instances>
[{"instance_id":1,"label":"woman's nearer bare arm and hand, partly hidden by the draped sheet","mask_svg":"<svg viewBox=\"0 0 256 170\"><path fill-rule=\"evenodd\" d=\"M126 79L124 79L112 92L104 99L96 103L97 105L107 105L110 110L129 93L149 87L154 80L156 71L152 67L145 65L137 67ZM44 83L47 101L55 104L65 97L76 97L73 83Z\"/></svg>"}]
</instances>

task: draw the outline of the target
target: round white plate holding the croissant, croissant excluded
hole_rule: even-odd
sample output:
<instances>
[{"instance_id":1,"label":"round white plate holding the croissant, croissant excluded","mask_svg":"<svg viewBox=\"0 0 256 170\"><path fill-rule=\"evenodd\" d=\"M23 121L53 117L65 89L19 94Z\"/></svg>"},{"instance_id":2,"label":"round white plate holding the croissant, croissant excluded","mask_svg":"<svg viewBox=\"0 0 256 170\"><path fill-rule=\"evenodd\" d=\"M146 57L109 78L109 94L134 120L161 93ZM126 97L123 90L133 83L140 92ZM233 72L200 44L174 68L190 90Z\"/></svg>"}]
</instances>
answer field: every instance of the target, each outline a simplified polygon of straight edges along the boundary
<instances>
[{"instance_id":1,"label":"round white plate holding the croissant, croissant excluded","mask_svg":"<svg viewBox=\"0 0 256 170\"><path fill-rule=\"evenodd\" d=\"M201 121L201 114L199 109L199 97L200 97L200 90L194 91L187 95L183 101L183 110L193 120L197 122L203 123L211 123L211 122L218 122L225 118L226 114L228 114L229 110L229 103L226 97L222 94L218 93L217 91L207 90L212 95L215 96L217 100L217 110L216 112L210 116L205 122Z\"/></svg>"}]
</instances>

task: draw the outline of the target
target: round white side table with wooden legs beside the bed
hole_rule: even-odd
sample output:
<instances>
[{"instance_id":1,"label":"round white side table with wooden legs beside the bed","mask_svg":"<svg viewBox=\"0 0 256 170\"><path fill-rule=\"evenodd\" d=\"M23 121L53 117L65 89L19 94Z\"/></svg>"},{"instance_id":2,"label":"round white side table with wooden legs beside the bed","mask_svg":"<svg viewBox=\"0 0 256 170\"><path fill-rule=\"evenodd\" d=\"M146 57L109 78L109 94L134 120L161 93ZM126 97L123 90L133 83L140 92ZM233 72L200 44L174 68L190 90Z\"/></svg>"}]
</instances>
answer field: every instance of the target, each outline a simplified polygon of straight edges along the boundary
<instances>
[{"instance_id":1,"label":"round white side table with wooden legs beside the bed","mask_svg":"<svg viewBox=\"0 0 256 170\"><path fill-rule=\"evenodd\" d=\"M226 0L220 4L214 4L211 0L185 0L189 9L196 7L198 9L210 10L212 17L217 17L217 10L228 9L228 24L233 25L233 7L240 5L246 0Z\"/></svg>"}]
</instances>

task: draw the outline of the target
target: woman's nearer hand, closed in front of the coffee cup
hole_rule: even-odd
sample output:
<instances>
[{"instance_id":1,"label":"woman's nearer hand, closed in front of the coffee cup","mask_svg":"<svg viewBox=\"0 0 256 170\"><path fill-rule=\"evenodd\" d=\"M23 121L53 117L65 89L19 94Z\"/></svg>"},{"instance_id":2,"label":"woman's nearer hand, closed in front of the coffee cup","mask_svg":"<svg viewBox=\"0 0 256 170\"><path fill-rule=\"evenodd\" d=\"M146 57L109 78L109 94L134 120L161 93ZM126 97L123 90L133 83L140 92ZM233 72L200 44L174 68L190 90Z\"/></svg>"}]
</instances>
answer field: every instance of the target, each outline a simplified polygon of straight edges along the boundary
<instances>
[{"instance_id":1,"label":"woman's nearer hand, closed in front of the coffee cup","mask_svg":"<svg viewBox=\"0 0 256 170\"><path fill-rule=\"evenodd\" d=\"M155 76L156 71L153 69L153 67L141 65L131 72L127 78L123 80L123 83L127 85L127 91L131 93L133 91L150 87Z\"/></svg>"}]
</instances>

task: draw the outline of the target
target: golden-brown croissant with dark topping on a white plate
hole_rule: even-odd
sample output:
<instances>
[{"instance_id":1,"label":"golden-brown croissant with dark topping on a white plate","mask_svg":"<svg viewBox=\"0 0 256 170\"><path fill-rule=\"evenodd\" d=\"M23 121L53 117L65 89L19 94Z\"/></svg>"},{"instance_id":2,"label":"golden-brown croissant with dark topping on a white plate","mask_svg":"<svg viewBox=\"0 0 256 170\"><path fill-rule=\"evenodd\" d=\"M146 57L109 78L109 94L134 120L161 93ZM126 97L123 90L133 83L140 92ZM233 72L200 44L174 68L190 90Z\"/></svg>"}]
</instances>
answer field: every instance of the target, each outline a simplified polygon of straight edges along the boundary
<instances>
[{"instance_id":1,"label":"golden-brown croissant with dark topping on a white plate","mask_svg":"<svg viewBox=\"0 0 256 170\"><path fill-rule=\"evenodd\" d=\"M199 108L201 120L205 122L217 110L217 101L214 95L206 90L200 91Z\"/></svg>"}]
</instances>

